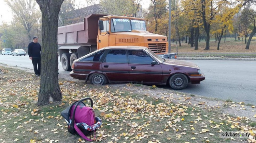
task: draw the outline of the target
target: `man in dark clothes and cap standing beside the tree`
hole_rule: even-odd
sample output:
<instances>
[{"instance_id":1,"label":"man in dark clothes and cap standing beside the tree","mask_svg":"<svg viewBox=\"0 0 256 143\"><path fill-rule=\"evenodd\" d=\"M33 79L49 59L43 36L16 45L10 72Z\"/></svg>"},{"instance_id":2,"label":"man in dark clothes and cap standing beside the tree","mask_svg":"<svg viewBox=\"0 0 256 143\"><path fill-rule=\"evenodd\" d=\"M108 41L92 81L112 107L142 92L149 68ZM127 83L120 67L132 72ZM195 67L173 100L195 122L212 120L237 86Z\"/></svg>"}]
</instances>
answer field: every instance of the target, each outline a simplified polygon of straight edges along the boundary
<instances>
[{"instance_id":1,"label":"man in dark clothes and cap standing beside the tree","mask_svg":"<svg viewBox=\"0 0 256 143\"><path fill-rule=\"evenodd\" d=\"M28 56L32 60L35 76L41 74L41 45L38 43L38 37L33 37L33 42L28 44Z\"/></svg>"}]
</instances>

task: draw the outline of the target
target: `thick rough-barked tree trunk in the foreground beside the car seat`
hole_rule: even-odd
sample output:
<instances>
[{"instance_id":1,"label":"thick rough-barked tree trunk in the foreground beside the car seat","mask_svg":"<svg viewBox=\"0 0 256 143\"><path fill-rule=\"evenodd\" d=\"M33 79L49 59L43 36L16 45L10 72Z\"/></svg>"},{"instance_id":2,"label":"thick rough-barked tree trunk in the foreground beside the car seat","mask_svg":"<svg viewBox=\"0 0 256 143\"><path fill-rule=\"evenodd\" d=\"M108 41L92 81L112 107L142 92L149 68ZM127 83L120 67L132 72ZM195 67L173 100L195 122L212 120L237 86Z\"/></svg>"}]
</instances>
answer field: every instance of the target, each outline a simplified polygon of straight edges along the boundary
<instances>
[{"instance_id":1,"label":"thick rough-barked tree trunk in the foreground beside the car seat","mask_svg":"<svg viewBox=\"0 0 256 143\"><path fill-rule=\"evenodd\" d=\"M58 14L64 0L36 0L42 12L41 80L37 106L61 101L58 82Z\"/></svg>"}]
</instances>

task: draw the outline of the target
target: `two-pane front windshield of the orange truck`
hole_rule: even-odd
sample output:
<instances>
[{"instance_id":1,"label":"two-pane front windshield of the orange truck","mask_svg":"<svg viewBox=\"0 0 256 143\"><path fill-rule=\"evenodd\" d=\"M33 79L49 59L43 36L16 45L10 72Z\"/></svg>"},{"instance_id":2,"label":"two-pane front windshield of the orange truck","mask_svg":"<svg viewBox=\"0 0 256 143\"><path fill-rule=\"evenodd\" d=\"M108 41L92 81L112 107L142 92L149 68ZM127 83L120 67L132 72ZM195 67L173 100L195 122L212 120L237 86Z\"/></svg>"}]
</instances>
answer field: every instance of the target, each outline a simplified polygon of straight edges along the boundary
<instances>
[{"instance_id":1,"label":"two-pane front windshield of the orange truck","mask_svg":"<svg viewBox=\"0 0 256 143\"><path fill-rule=\"evenodd\" d=\"M145 21L113 18L111 32L131 32L131 30L146 30Z\"/></svg>"}]
</instances>

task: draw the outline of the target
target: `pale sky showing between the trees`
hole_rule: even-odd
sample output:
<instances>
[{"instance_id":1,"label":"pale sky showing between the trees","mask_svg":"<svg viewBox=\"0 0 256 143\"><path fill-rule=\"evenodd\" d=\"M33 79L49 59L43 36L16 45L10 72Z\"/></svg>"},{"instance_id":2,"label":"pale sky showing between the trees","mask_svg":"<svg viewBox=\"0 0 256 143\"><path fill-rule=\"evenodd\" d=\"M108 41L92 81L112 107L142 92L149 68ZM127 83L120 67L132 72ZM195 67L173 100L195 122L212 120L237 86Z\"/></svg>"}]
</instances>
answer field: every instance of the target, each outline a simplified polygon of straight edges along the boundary
<instances>
[{"instance_id":1,"label":"pale sky showing between the trees","mask_svg":"<svg viewBox=\"0 0 256 143\"><path fill-rule=\"evenodd\" d=\"M99 2L99 0L96 0ZM75 3L78 5L86 5L86 0L75 0ZM150 4L149 0L141 0L142 8L148 8ZM12 11L11 8L4 2L0 0L0 23L12 21Z\"/></svg>"}]
</instances>

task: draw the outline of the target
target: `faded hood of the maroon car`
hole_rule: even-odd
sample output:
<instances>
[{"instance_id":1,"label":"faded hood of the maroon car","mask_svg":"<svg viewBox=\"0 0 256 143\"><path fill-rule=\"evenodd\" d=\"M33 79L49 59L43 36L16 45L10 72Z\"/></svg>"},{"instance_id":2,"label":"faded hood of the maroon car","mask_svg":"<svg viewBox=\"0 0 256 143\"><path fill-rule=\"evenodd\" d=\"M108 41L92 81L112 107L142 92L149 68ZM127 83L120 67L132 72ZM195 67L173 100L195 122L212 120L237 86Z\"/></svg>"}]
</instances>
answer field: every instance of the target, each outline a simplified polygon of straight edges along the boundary
<instances>
[{"instance_id":1,"label":"faded hood of the maroon car","mask_svg":"<svg viewBox=\"0 0 256 143\"><path fill-rule=\"evenodd\" d=\"M167 65L177 65L177 66L183 66L183 67L191 67L191 68L197 68L200 69L196 64L190 61L184 61L184 60L177 60L177 59L166 59L163 64Z\"/></svg>"}]
</instances>

